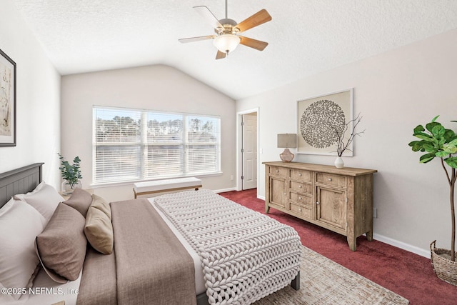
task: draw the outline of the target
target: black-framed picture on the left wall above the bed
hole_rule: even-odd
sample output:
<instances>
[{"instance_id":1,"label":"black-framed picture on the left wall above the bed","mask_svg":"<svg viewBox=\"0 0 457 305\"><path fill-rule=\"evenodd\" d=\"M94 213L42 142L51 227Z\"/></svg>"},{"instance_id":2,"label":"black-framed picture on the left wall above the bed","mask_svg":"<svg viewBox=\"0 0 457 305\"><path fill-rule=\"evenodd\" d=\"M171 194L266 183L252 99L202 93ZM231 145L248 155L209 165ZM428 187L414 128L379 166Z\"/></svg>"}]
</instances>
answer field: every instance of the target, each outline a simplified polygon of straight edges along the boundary
<instances>
[{"instance_id":1,"label":"black-framed picture on the left wall above the bed","mask_svg":"<svg viewBox=\"0 0 457 305\"><path fill-rule=\"evenodd\" d=\"M0 146L16 146L16 63L1 50Z\"/></svg>"}]
</instances>

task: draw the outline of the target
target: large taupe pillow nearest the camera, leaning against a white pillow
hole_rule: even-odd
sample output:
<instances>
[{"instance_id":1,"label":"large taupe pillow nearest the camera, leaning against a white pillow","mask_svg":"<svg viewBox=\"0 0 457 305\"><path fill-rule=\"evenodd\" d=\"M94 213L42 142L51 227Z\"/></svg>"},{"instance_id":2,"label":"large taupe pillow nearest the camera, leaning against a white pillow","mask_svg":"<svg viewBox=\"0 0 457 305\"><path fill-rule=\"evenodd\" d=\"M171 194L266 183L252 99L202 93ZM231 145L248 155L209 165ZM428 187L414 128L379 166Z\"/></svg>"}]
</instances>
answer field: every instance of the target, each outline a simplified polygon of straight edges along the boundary
<instances>
[{"instance_id":1,"label":"large taupe pillow nearest the camera, leaning against a white pillow","mask_svg":"<svg viewBox=\"0 0 457 305\"><path fill-rule=\"evenodd\" d=\"M79 211L60 203L44 231L36 236L36 253L54 281L78 279L86 256L85 223Z\"/></svg>"}]
</instances>

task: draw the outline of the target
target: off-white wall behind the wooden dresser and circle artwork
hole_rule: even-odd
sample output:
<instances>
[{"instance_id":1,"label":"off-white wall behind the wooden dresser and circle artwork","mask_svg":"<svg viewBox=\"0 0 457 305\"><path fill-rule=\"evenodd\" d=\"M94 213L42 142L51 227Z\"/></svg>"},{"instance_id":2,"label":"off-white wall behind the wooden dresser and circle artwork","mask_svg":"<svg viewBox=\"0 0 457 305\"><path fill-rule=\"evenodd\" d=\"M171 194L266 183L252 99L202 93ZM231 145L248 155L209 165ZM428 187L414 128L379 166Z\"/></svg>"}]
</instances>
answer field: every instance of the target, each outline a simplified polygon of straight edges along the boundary
<instances>
[{"instance_id":1,"label":"off-white wall behind the wooden dresser and circle artwork","mask_svg":"<svg viewBox=\"0 0 457 305\"><path fill-rule=\"evenodd\" d=\"M408 146L413 128L440 114L457 131L457 30L338 67L237 101L236 111L259 107L260 162L279 160L276 134L296 133L297 101L354 88L354 113L366 129L346 166L374 175L375 239L428 256L429 244L450 248L451 216L445 174L438 160L419 164ZM333 164L334 156L296 154L294 161ZM265 174L259 165L259 175ZM259 194L265 194L265 181Z\"/></svg>"}]
</instances>

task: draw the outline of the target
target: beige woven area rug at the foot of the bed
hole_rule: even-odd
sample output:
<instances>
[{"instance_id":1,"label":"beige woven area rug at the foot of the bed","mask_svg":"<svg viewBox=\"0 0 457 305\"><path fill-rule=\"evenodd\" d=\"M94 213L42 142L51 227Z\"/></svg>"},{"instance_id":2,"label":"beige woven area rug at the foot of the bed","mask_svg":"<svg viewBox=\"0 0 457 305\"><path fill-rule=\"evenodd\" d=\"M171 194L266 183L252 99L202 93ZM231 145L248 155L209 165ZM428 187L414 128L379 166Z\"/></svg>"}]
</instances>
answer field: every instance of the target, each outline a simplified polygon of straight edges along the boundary
<instances>
[{"instance_id":1,"label":"beige woven area rug at the foot of the bed","mask_svg":"<svg viewBox=\"0 0 457 305\"><path fill-rule=\"evenodd\" d=\"M286 304L409 304L403 296L336 264L303 246L300 290L287 286L254 305Z\"/></svg>"}]
</instances>

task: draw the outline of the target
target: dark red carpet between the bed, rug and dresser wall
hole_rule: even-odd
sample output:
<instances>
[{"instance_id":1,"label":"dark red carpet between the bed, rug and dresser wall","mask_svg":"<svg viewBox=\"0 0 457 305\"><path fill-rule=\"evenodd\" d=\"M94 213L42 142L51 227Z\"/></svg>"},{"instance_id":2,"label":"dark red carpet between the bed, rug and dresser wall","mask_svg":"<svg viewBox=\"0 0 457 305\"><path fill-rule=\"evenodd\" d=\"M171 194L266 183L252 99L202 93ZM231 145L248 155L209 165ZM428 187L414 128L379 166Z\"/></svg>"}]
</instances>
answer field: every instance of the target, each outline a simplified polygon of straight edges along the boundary
<instances>
[{"instance_id":1,"label":"dark red carpet between the bed, rug and dresser wall","mask_svg":"<svg viewBox=\"0 0 457 305\"><path fill-rule=\"evenodd\" d=\"M265 213L265 201L256 198L256 189L220 193L243 206ZM355 271L361 276L419 304L457 304L457 286L436 277L430 259L396 248L381 241L357 239L357 251L351 251L346 236L328 231L271 208L268 216L292 226L303 246Z\"/></svg>"}]
</instances>

